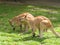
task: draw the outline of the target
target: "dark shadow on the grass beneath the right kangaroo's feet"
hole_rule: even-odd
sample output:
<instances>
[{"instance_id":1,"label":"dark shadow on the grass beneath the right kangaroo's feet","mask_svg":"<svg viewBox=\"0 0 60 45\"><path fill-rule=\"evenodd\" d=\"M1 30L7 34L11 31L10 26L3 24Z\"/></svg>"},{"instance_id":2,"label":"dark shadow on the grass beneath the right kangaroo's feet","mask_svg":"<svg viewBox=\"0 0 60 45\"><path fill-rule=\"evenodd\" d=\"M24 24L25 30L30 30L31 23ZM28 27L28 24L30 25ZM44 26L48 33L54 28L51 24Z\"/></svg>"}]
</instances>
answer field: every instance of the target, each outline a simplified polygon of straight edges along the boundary
<instances>
[{"instance_id":1,"label":"dark shadow on the grass beneath the right kangaroo's feet","mask_svg":"<svg viewBox=\"0 0 60 45\"><path fill-rule=\"evenodd\" d=\"M43 37L43 38L39 38L38 36L35 36L35 37L32 37L32 36L29 36L29 37L24 37L20 40L22 41L30 41L30 40L33 40L33 41L37 41L37 42L40 42L41 44L44 44L44 40L46 39L51 39L51 38L58 38L58 37Z\"/></svg>"}]
</instances>

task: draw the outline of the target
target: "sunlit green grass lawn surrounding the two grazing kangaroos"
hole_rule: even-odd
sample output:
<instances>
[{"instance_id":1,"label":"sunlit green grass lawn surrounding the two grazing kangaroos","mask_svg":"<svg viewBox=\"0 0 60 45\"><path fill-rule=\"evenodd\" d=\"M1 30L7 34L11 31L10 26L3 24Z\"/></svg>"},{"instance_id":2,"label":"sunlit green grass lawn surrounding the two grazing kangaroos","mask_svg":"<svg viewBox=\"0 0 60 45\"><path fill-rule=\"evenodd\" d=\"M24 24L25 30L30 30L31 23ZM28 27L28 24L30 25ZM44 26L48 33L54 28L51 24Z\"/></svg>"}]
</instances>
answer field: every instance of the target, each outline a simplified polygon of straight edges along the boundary
<instances>
[{"instance_id":1,"label":"sunlit green grass lawn surrounding the two grazing kangaroos","mask_svg":"<svg viewBox=\"0 0 60 45\"><path fill-rule=\"evenodd\" d=\"M31 33L20 33L19 27L13 31L8 20L23 12L48 17L55 31L60 32L60 7L0 4L0 45L60 45L60 38L52 32L45 32L44 38L40 39L37 36L33 38Z\"/></svg>"}]
</instances>

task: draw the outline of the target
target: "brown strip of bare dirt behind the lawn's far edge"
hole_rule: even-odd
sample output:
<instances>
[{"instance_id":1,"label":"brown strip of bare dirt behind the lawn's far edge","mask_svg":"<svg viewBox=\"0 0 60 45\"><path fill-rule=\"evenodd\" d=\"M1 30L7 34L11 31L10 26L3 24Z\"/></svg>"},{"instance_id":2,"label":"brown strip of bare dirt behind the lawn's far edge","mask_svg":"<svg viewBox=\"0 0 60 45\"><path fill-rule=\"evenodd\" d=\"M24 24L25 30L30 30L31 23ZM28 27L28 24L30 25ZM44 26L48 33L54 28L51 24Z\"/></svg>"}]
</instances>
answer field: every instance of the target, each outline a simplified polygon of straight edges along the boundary
<instances>
[{"instance_id":1,"label":"brown strip of bare dirt behind the lawn's far edge","mask_svg":"<svg viewBox=\"0 0 60 45\"><path fill-rule=\"evenodd\" d=\"M55 6L55 7L60 7L60 2L52 2L52 1L37 1L37 0L34 0L34 1L25 1L24 3L22 2L0 2L0 3L5 3L5 4L32 4L32 5L47 5L47 6Z\"/></svg>"}]
</instances>

